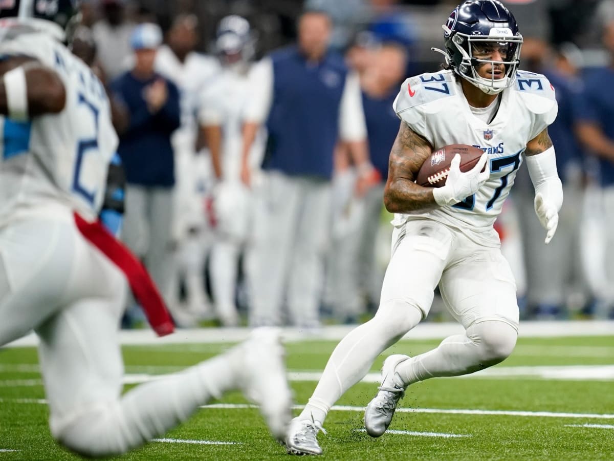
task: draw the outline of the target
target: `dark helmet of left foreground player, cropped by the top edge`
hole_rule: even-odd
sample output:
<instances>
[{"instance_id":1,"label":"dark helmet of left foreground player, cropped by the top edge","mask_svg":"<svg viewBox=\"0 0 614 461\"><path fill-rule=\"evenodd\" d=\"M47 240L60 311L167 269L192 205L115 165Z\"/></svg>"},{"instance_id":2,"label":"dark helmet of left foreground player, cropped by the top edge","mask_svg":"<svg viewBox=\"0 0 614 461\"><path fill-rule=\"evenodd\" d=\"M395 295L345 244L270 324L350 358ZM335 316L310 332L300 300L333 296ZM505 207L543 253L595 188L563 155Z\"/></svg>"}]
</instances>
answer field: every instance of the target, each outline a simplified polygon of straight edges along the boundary
<instances>
[{"instance_id":1,"label":"dark helmet of left foreground player, cropped by the top edge","mask_svg":"<svg viewBox=\"0 0 614 461\"><path fill-rule=\"evenodd\" d=\"M0 18L15 18L69 41L81 22L80 0L10 0L0 2Z\"/></svg>"}]
</instances>

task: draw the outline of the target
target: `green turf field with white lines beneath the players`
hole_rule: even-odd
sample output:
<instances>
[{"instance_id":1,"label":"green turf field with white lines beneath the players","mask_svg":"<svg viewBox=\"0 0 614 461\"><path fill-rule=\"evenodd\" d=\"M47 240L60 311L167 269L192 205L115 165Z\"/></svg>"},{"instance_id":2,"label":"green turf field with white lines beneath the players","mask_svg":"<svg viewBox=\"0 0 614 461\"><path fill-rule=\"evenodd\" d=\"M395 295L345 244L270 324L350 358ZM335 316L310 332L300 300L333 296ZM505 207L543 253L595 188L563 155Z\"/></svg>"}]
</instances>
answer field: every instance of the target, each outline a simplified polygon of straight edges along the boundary
<instances>
[{"instance_id":1,"label":"green turf field with white lines beneath the players","mask_svg":"<svg viewBox=\"0 0 614 461\"><path fill-rule=\"evenodd\" d=\"M297 404L316 385L335 342L287 344ZM420 353L438 341L403 341L388 353ZM228 345L124 347L131 382L211 357ZM372 371L381 366L382 355ZM0 350L0 460L77 459L58 447L47 427L47 406L36 350ZM330 412L320 435L329 460L614 459L614 336L521 338L507 361L483 376L432 379L408 388L391 430L379 439L360 431L376 384L362 382ZM373 380L374 376L367 376ZM126 460L292 459L268 437L257 409L228 395L229 408L203 408L165 435L169 441ZM414 409L415 411L405 411ZM295 410L297 412L298 409ZM181 441L201 441L182 443ZM207 441L210 444L204 444ZM217 443L217 444L214 444ZM223 444L221 444L223 443ZM13 450L13 451L9 451Z\"/></svg>"}]
</instances>

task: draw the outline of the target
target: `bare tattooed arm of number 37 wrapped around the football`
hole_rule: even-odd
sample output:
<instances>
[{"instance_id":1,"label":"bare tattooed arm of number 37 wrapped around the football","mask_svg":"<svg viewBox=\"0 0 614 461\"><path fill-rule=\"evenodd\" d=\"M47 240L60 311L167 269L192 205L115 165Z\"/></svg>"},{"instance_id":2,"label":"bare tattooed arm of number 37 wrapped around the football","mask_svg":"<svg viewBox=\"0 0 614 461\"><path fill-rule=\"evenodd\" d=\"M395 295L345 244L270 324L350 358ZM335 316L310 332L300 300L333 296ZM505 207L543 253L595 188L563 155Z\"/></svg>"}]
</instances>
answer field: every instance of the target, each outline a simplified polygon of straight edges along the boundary
<instances>
[{"instance_id":1,"label":"bare tattooed arm of number 37 wrapped around the football","mask_svg":"<svg viewBox=\"0 0 614 461\"><path fill-rule=\"evenodd\" d=\"M422 136L401 122L390 152L384 205L391 213L413 213L437 207L432 187L414 183L418 170L433 147Z\"/></svg>"}]
</instances>

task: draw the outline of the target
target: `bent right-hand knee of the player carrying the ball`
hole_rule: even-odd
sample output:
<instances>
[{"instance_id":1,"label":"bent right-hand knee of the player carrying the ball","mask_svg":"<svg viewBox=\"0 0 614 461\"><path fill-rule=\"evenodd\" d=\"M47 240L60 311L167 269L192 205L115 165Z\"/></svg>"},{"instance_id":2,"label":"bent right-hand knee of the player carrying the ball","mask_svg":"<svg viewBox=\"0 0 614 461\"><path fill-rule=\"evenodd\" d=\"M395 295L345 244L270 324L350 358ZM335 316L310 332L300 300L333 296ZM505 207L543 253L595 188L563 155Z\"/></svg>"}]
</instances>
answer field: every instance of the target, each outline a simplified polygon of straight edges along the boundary
<instances>
[{"instance_id":1,"label":"bent right-hand knee of the player carrying the ball","mask_svg":"<svg viewBox=\"0 0 614 461\"><path fill-rule=\"evenodd\" d=\"M502 321L484 321L476 325L475 339L480 347L480 359L492 366L510 357L516 345L518 332Z\"/></svg>"}]
</instances>

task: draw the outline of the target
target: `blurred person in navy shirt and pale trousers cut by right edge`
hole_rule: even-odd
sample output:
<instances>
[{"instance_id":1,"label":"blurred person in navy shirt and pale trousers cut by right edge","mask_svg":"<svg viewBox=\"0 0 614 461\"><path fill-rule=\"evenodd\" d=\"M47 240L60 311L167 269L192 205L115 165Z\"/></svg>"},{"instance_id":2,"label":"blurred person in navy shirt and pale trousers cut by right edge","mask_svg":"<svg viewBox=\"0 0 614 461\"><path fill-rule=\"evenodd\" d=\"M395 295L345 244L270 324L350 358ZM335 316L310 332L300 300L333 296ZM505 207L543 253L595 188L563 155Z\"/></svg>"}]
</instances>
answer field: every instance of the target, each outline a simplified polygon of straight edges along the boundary
<instances>
[{"instance_id":1,"label":"blurred person in navy shirt and pale trousers cut by right edge","mask_svg":"<svg viewBox=\"0 0 614 461\"><path fill-rule=\"evenodd\" d=\"M591 219L598 223L587 248L592 256L588 280L597 301L596 316L607 318L614 313L614 92L604 89L611 87L614 77L614 18L604 23L602 34L610 63L586 71L576 129L599 163L600 189L588 203Z\"/></svg>"}]
</instances>

